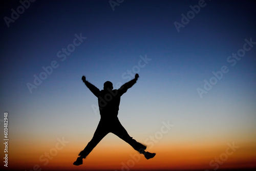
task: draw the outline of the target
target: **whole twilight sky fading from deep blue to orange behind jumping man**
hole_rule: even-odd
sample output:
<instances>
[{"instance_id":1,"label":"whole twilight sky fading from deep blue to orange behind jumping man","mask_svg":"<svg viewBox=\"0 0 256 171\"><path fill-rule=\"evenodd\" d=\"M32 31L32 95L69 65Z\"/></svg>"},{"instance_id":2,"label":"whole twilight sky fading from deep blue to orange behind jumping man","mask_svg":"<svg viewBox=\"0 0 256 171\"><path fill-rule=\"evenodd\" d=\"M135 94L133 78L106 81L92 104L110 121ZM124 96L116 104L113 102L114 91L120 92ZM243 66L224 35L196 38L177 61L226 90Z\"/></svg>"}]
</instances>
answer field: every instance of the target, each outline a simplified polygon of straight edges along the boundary
<instances>
[{"instance_id":1,"label":"whole twilight sky fading from deep blue to orange behind jumping man","mask_svg":"<svg viewBox=\"0 0 256 171\"><path fill-rule=\"evenodd\" d=\"M38 0L9 27L4 18L21 4L1 2L0 127L4 137L8 112L8 169L255 168L256 45L245 45L256 41L254 1L205 1L179 32L174 23L200 1L119 2L113 10L108 0ZM75 35L87 38L65 55ZM250 50L241 51L244 45ZM58 67L30 91L34 75L54 61ZM223 66L228 72L213 78ZM118 117L156 157L146 160L109 134L83 165L72 165L100 119L81 76L101 90L105 81L119 88L135 73L140 77L121 97ZM200 97L204 80L217 82ZM167 123L174 126L163 132ZM3 149L1 143L2 157Z\"/></svg>"}]
</instances>

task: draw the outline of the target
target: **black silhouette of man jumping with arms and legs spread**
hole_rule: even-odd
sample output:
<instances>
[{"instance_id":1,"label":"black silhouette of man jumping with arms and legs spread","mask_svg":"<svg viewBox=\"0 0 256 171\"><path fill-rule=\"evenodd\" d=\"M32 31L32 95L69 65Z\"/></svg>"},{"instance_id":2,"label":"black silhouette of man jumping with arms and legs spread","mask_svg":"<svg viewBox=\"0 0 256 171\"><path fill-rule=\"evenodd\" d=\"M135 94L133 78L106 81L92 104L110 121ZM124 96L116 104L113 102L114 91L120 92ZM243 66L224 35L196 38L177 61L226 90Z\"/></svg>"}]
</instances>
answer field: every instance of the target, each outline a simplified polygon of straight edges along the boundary
<instances>
[{"instance_id":1,"label":"black silhouette of man jumping with arms and legs spread","mask_svg":"<svg viewBox=\"0 0 256 171\"><path fill-rule=\"evenodd\" d=\"M87 146L79 153L77 160L73 163L74 165L82 164L82 159L86 158L93 148L104 138L107 134L113 133L119 138L129 143L136 151L143 154L146 159L153 158L156 154L145 152L146 146L137 142L135 139L130 137L124 127L118 120L118 110L120 104L120 97L131 88L138 80L139 75L136 74L135 78L129 82L123 84L118 90L113 90L113 84L110 81L104 83L103 90L99 90L93 84L86 80L85 76L82 76L82 81L91 90L91 92L98 98L100 121L97 129L93 135L92 140Z\"/></svg>"}]
</instances>

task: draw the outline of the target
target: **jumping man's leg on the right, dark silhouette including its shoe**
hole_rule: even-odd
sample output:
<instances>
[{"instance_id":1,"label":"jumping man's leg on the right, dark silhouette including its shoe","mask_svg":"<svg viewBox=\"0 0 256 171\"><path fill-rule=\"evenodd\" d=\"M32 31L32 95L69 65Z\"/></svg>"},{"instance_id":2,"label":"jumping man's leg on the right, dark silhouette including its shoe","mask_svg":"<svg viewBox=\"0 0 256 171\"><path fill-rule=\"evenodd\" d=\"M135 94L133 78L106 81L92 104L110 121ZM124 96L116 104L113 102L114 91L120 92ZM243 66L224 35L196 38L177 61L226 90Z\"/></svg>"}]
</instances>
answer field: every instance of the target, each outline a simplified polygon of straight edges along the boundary
<instances>
[{"instance_id":1,"label":"jumping man's leg on the right, dark silhouette including its shoe","mask_svg":"<svg viewBox=\"0 0 256 171\"><path fill-rule=\"evenodd\" d=\"M153 158L156 155L155 153L145 152L146 146L133 139L119 121L115 123L114 129L111 132L129 143L136 151L143 154L146 159Z\"/></svg>"}]
</instances>

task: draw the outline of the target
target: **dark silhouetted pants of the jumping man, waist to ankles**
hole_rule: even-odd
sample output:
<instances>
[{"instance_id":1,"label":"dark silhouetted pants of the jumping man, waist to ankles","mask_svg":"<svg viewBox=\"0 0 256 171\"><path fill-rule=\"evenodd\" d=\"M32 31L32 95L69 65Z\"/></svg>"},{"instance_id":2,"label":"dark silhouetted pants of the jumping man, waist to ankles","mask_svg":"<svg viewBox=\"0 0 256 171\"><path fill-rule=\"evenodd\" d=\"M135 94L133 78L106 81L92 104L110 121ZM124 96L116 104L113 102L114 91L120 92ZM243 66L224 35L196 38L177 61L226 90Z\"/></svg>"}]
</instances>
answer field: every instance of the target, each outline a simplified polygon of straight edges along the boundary
<instances>
[{"instance_id":1,"label":"dark silhouetted pants of the jumping man, waist to ankles","mask_svg":"<svg viewBox=\"0 0 256 171\"><path fill-rule=\"evenodd\" d=\"M117 135L119 138L129 143L136 151L140 153L144 152L144 149L146 148L146 146L142 145L141 143L137 142L129 136L127 131L121 125L118 118L111 121L109 119L101 119L92 140L87 144L83 151L80 152L79 156L81 156L82 158L86 158L86 156L91 153L93 148L100 142L100 140L102 140L102 138L104 138L109 133Z\"/></svg>"}]
</instances>

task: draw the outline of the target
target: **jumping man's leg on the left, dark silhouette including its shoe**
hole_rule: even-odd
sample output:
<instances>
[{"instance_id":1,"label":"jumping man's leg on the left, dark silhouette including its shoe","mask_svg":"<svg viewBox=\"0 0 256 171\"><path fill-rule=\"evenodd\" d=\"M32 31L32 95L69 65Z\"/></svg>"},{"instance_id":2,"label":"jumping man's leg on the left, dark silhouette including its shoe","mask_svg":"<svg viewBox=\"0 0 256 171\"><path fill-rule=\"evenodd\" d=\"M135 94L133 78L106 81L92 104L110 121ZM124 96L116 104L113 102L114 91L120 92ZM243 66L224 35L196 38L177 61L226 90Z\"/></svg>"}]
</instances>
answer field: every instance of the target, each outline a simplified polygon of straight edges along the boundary
<instances>
[{"instance_id":1,"label":"jumping man's leg on the left, dark silhouette including its shoe","mask_svg":"<svg viewBox=\"0 0 256 171\"><path fill-rule=\"evenodd\" d=\"M82 159L86 158L93 148L108 134L108 129L105 127L105 124L102 122L99 122L97 129L93 135L92 140L87 144L87 146L79 153L79 156L77 160L73 163L74 165L80 165L82 164Z\"/></svg>"}]
</instances>

